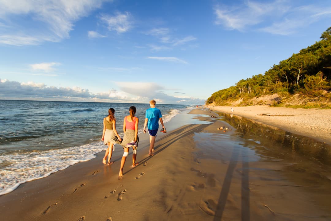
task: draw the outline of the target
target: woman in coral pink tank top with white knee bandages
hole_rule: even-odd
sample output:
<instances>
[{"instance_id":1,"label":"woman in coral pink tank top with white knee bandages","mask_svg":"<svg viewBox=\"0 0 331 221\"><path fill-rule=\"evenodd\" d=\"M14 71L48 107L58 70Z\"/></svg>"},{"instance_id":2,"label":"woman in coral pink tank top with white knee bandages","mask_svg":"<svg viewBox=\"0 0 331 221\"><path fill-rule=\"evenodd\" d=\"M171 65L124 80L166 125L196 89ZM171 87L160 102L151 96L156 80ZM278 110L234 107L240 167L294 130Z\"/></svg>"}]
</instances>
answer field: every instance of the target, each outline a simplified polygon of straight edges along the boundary
<instances>
[{"instance_id":1,"label":"woman in coral pink tank top with white knee bandages","mask_svg":"<svg viewBox=\"0 0 331 221\"><path fill-rule=\"evenodd\" d=\"M139 137L138 137L138 123L139 119L135 117L134 115L137 112L137 109L135 106L131 106L129 108L130 115L127 115L124 117L124 122L123 122L123 132L124 132L124 137L122 140L122 146L124 149L124 153L122 156L121 160L121 167L119 169L118 173L118 179L122 179L123 176L123 167L126 161L126 157L129 154L129 147L132 147L132 167L135 167L138 165L136 163L136 158L137 158L137 147L138 147L138 142L139 142Z\"/></svg>"}]
</instances>

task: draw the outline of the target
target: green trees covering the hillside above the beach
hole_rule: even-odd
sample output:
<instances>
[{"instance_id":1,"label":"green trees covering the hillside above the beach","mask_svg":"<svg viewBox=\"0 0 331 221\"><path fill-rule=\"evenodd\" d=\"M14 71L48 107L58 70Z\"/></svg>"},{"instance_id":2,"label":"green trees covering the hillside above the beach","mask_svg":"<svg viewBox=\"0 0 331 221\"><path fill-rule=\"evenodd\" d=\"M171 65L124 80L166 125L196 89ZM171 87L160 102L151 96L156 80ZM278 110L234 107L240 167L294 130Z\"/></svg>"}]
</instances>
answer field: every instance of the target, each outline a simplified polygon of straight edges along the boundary
<instances>
[{"instance_id":1,"label":"green trees covering the hillside above the beach","mask_svg":"<svg viewBox=\"0 0 331 221\"><path fill-rule=\"evenodd\" d=\"M290 58L274 64L264 74L242 79L234 86L214 92L206 105L230 105L232 101L277 93L286 99L294 94L318 97L330 102L331 91L331 27L322 33L319 41L300 50ZM282 105L277 100L273 105ZM315 99L316 100L316 99ZM240 105L249 105L242 102ZM323 105L322 105L323 106ZM329 104L327 104L330 107Z\"/></svg>"}]
</instances>

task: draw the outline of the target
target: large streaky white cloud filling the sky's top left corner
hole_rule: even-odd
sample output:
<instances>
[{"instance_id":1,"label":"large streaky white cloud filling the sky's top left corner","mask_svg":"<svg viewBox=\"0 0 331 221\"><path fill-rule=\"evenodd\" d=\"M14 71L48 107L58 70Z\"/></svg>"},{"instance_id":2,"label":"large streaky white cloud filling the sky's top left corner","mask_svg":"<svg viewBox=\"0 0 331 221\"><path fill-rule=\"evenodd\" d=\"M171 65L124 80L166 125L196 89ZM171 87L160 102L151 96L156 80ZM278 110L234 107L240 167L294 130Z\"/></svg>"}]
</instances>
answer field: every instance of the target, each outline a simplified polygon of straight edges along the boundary
<instances>
[{"instance_id":1,"label":"large streaky white cloud filling the sky's top left corner","mask_svg":"<svg viewBox=\"0 0 331 221\"><path fill-rule=\"evenodd\" d=\"M4 28L0 43L35 45L69 38L74 22L100 8L104 1L106 0L2 0L0 19L3 20ZM22 16L31 26L19 24Z\"/></svg>"}]
</instances>

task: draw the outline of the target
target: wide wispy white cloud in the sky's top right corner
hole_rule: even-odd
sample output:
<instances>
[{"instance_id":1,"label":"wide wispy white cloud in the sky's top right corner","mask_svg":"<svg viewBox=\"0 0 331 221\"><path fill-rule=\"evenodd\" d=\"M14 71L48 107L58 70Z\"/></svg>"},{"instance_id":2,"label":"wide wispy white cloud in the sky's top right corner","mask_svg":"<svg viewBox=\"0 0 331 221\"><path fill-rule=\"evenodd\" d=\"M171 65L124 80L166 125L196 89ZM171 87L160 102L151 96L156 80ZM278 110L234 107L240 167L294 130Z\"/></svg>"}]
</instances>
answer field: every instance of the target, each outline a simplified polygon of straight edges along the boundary
<instances>
[{"instance_id":1,"label":"wide wispy white cloud in the sky's top right corner","mask_svg":"<svg viewBox=\"0 0 331 221\"><path fill-rule=\"evenodd\" d=\"M248 28L288 35L298 28L305 28L318 19L331 15L330 7L314 5L295 6L297 2L276 0L273 2L245 1L243 5L230 8L215 6L215 24L228 29L246 31ZM259 26L259 27L258 27Z\"/></svg>"}]
</instances>

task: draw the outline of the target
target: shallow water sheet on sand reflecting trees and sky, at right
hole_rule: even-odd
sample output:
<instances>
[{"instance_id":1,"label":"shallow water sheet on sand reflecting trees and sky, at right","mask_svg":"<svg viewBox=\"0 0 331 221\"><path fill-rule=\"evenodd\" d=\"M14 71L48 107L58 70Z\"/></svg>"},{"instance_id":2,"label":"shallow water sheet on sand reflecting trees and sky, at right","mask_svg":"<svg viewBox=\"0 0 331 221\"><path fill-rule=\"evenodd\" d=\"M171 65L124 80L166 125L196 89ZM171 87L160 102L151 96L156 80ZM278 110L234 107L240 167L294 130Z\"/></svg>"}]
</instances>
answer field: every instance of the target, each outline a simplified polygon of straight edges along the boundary
<instances>
[{"instance_id":1,"label":"shallow water sheet on sand reflecting trees and sky, at right","mask_svg":"<svg viewBox=\"0 0 331 221\"><path fill-rule=\"evenodd\" d=\"M227 170L215 177L222 182L216 184L221 189L214 199L214 220L227 218L229 197L236 194L241 198L241 220L259 216L265 220L268 214L272 220L331 220L329 145L235 115L220 114L215 120L214 128L221 125L232 131L222 133L208 126L194 136L208 140L199 146L199 159L227 164ZM240 192L231 193L237 179ZM261 207L268 213L259 215Z\"/></svg>"}]
</instances>

